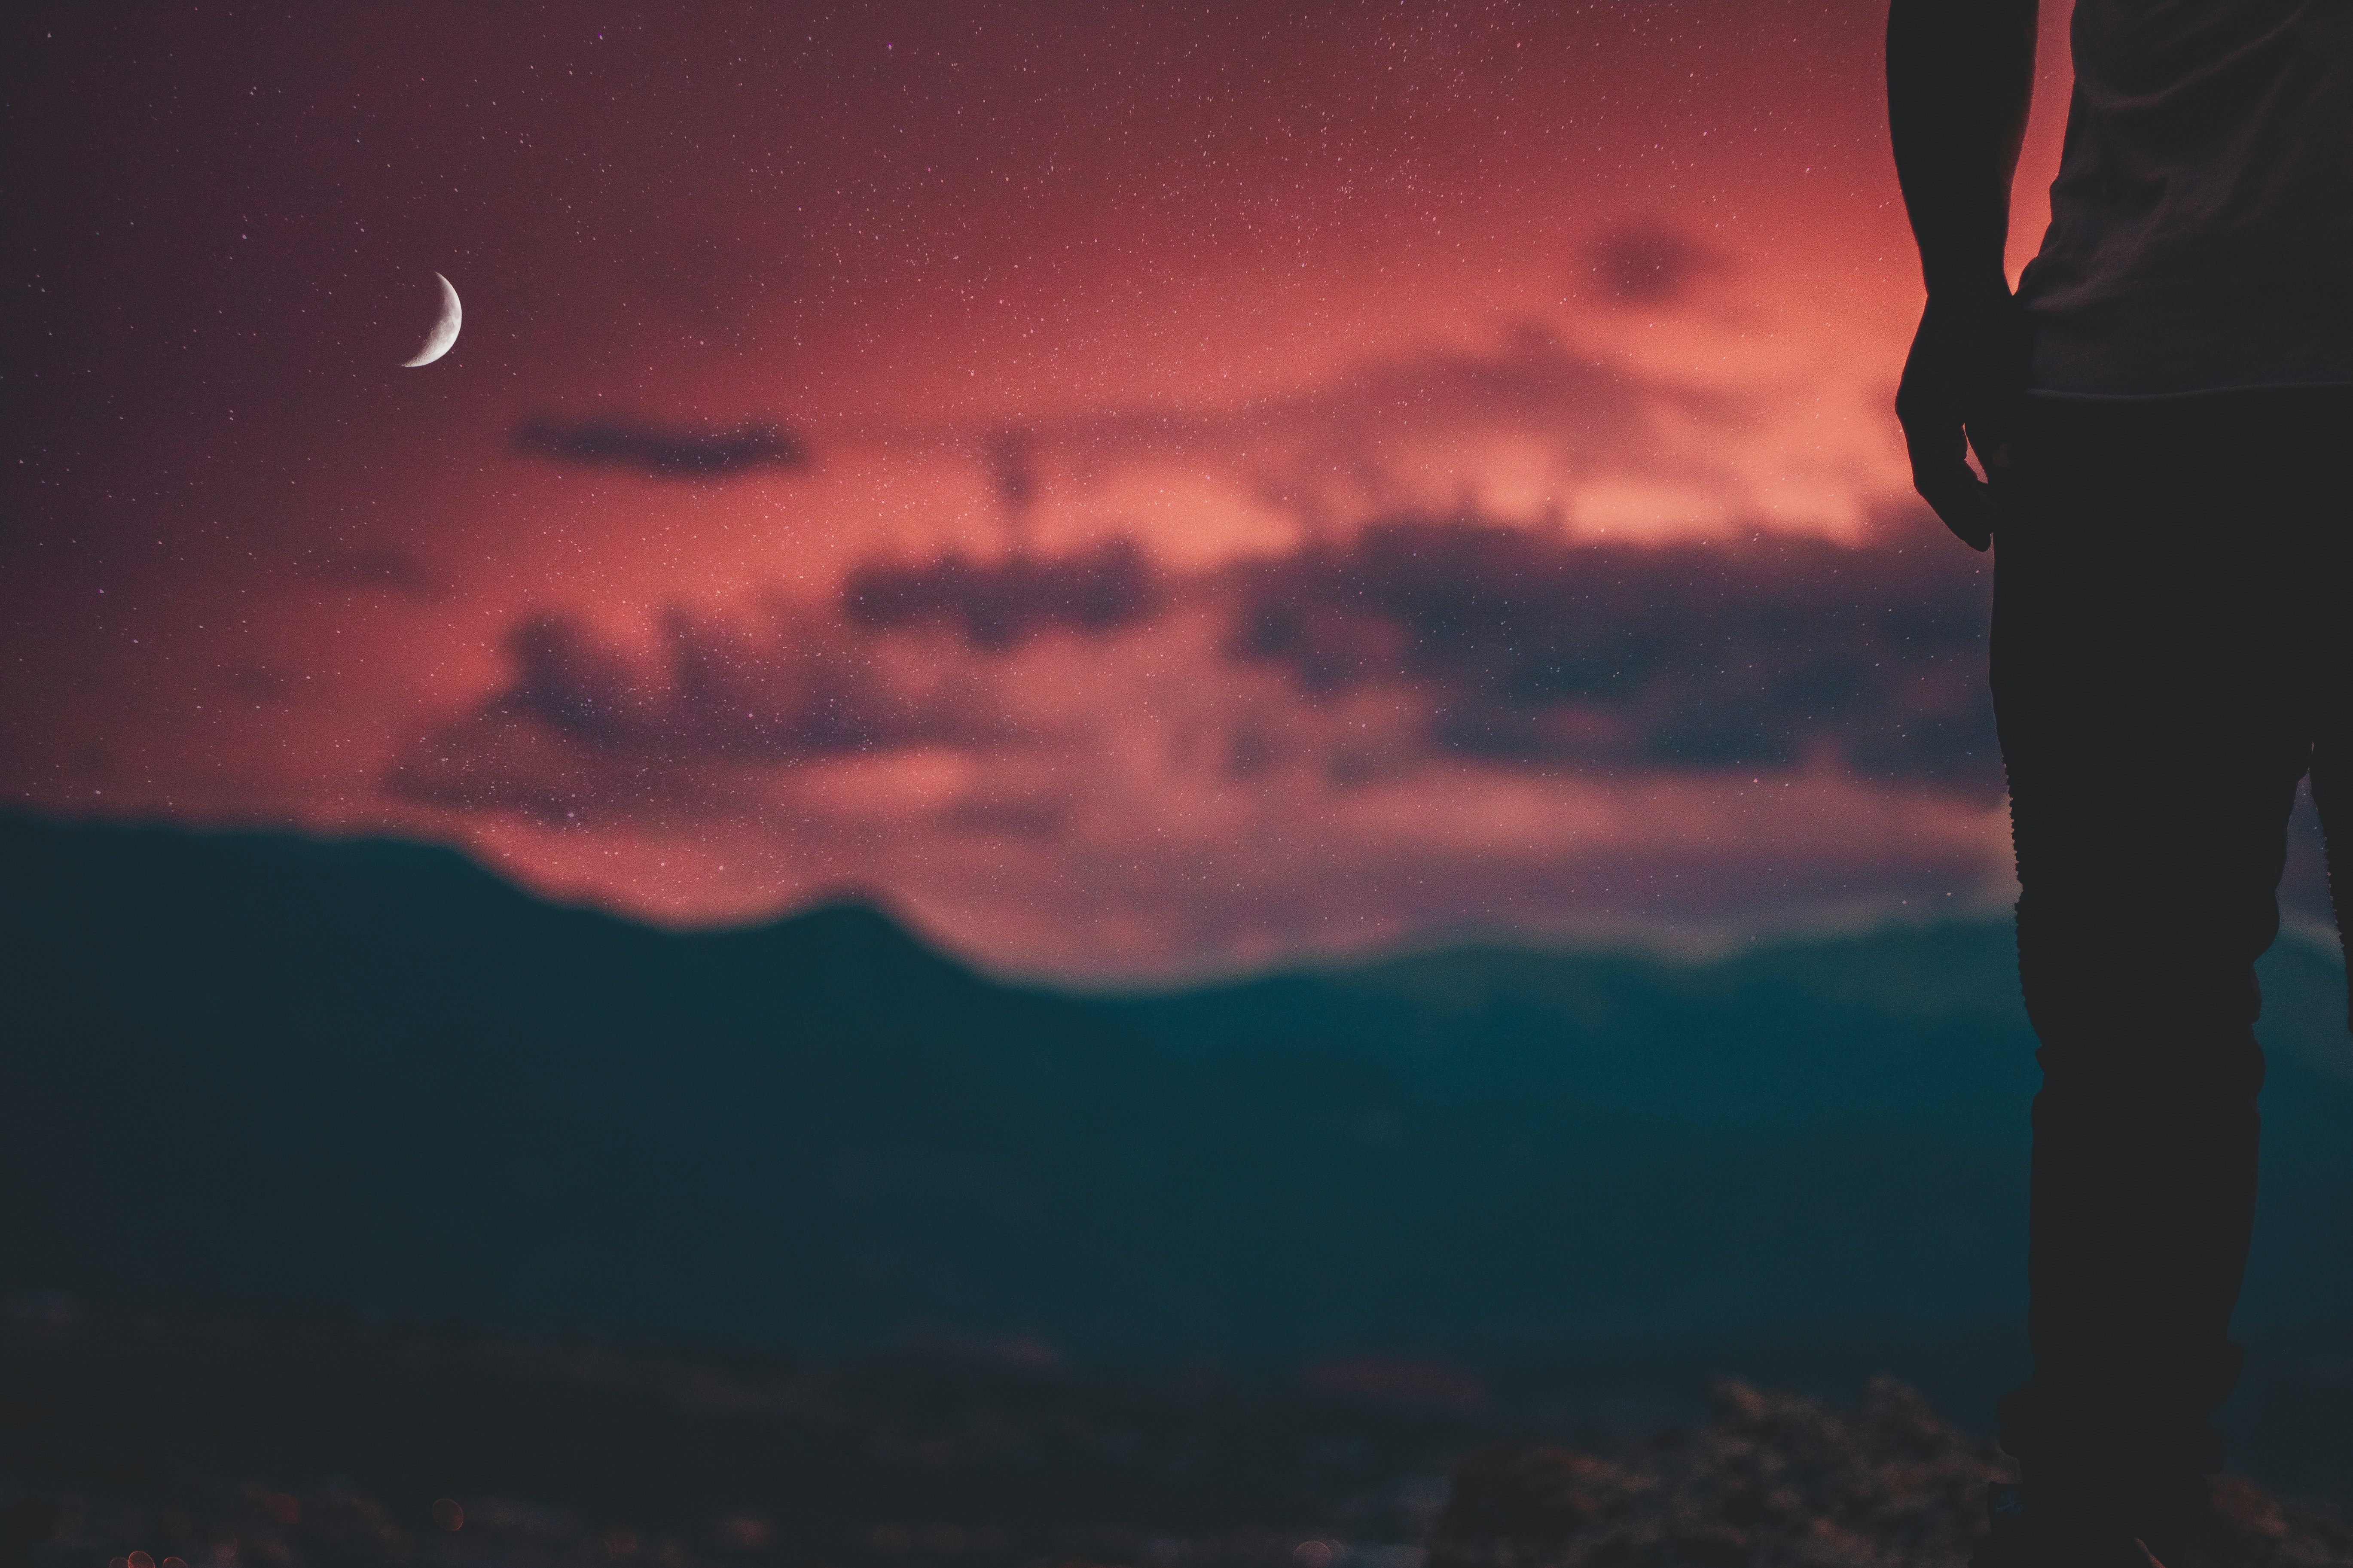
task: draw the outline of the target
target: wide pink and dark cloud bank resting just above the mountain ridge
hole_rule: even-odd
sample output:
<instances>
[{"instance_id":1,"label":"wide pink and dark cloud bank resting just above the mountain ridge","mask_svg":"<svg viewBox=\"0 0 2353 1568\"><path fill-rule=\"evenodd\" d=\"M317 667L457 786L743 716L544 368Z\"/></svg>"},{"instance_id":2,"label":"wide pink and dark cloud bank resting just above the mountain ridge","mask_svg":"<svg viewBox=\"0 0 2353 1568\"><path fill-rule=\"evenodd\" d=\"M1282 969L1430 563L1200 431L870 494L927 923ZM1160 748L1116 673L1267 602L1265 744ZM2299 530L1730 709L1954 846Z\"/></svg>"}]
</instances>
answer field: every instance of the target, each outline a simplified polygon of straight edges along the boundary
<instances>
[{"instance_id":1,"label":"wide pink and dark cloud bank resting just above the mountain ridge","mask_svg":"<svg viewBox=\"0 0 2353 1568\"><path fill-rule=\"evenodd\" d=\"M1461 510L1200 569L1113 538L838 590L647 632L525 616L388 792L567 896L711 922L871 886L1066 976L1466 926L1713 940L1955 910L2007 867L1986 581L1953 548Z\"/></svg>"}]
</instances>

